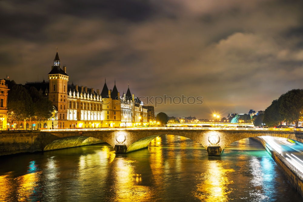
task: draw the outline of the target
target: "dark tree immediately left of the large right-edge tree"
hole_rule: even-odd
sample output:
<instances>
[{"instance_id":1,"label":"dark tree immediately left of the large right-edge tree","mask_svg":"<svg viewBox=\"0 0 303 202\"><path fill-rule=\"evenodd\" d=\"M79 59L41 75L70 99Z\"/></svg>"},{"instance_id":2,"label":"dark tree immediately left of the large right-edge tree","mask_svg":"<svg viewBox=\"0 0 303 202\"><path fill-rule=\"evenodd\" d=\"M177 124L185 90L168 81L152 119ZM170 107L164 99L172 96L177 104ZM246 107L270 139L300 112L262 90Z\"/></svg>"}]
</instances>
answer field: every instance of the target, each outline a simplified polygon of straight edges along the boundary
<instances>
[{"instance_id":1,"label":"dark tree immediately left of the large right-edge tree","mask_svg":"<svg viewBox=\"0 0 303 202\"><path fill-rule=\"evenodd\" d=\"M280 125L281 121L283 120L283 118L279 112L280 111L280 102L281 102L280 98L273 100L271 105L268 106L264 111L263 122L267 126Z\"/></svg>"}]
</instances>

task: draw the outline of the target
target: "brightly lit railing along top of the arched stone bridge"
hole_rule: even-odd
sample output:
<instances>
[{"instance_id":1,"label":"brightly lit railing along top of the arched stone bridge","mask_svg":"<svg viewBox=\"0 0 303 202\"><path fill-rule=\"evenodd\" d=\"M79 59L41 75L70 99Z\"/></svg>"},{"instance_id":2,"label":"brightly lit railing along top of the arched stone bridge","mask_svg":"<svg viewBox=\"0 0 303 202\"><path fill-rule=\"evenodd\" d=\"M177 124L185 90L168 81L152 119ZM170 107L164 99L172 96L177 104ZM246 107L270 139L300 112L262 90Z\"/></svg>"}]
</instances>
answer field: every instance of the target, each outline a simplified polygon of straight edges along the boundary
<instances>
[{"instance_id":1,"label":"brightly lit railing along top of the arched stone bridge","mask_svg":"<svg viewBox=\"0 0 303 202\"><path fill-rule=\"evenodd\" d=\"M77 128L77 129L46 129L44 132L54 131L106 131L106 130L257 130L257 131L303 131L293 128L225 128L225 127L130 127L130 128Z\"/></svg>"}]
</instances>

